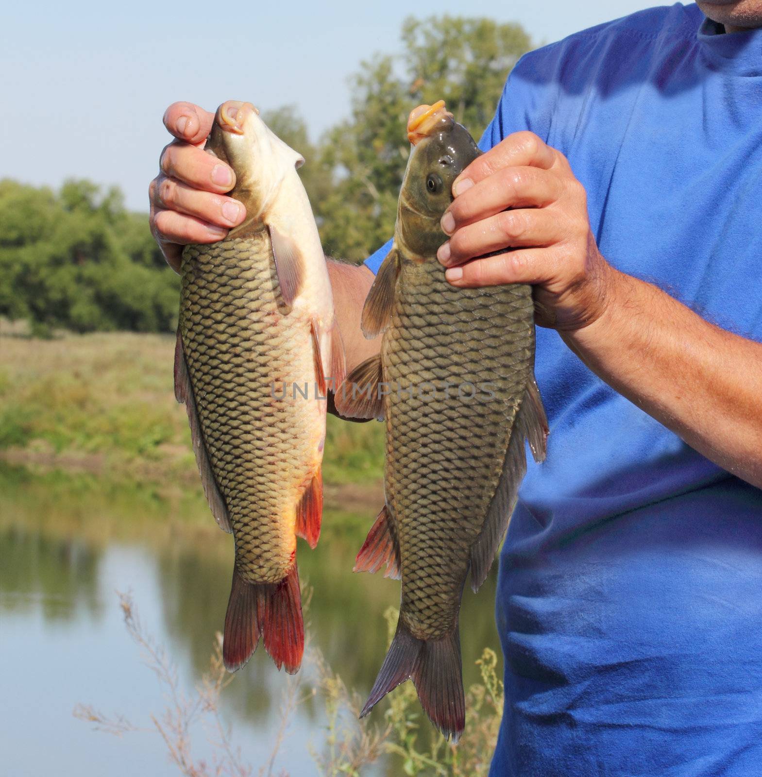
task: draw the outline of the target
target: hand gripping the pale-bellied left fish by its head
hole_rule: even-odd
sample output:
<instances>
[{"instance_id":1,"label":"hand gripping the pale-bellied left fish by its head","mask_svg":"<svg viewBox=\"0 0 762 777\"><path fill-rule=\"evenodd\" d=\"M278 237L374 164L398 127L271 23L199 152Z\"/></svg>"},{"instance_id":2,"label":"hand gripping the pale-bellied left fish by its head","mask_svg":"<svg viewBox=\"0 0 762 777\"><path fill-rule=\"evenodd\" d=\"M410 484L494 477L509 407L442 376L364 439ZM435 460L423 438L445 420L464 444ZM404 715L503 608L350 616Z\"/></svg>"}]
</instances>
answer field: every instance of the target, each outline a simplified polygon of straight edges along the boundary
<instances>
[{"instance_id":1,"label":"hand gripping the pale-bellied left fish by its head","mask_svg":"<svg viewBox=\"0 0 762 777\"><path fill-rule=\"evenodd\" d=\"M164 114L164 126L176 140L162 151L148 199L151 234L176 272L183 246L217 242L246 215L238 200L224 197L235 186L235 173L204 152L213 121L214 113L193 103L172 103Z\"/></svg>"}]
</instances>

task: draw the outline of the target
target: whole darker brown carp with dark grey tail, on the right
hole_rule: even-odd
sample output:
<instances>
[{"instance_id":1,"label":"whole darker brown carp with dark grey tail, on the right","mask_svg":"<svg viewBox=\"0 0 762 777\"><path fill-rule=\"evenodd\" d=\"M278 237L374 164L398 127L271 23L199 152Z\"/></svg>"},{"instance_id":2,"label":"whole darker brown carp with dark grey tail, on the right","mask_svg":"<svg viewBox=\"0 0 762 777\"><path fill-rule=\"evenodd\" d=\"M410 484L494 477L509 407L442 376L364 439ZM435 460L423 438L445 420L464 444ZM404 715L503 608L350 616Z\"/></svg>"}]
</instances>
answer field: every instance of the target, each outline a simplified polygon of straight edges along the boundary
<instances>
[{"instance_id":1,"label":"whole darker brown carp with dark grey tail, on the right","mask_svg":"<svg viewBox=\"0 0 762 777\"><path fill-rule=\"evenodd\" d=\"M365 301L381 354L339 389L348 417L384 417L386 503L356 571L402 579L395 638L362 715L412 678L445 737L465 726L458 614L466 576L482 585L526 472L524 441L545 458L548 425L534 382L531 287L456 288L437 249L452 184L480 153L444 103L411 113L413 148L395 239Z\"/></svg>"}]
</instances>

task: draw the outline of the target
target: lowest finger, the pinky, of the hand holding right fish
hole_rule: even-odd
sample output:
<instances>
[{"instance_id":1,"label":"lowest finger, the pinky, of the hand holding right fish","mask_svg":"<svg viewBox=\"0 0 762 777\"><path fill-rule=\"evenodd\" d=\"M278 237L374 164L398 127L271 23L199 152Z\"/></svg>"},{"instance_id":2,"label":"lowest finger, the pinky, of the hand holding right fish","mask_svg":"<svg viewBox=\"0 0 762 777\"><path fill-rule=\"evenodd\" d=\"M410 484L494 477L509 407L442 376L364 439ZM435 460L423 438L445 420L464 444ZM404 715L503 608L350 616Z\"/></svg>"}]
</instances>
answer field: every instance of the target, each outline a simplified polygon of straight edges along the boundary
<instances>
[{"instance_id":1,"label":"lowest finger, the pinky, of the hand holding right fish","mask_svg":"<svg viewBox=\"0 0 762 777\"><path fill-rule=\"evenodd\" d=\"M451 267L444 277L458 288L499 286L500 284L538 284L551 277L548 249L522 249L497 256L475 259L461 267Z\"/></svg>"}]
</instances>

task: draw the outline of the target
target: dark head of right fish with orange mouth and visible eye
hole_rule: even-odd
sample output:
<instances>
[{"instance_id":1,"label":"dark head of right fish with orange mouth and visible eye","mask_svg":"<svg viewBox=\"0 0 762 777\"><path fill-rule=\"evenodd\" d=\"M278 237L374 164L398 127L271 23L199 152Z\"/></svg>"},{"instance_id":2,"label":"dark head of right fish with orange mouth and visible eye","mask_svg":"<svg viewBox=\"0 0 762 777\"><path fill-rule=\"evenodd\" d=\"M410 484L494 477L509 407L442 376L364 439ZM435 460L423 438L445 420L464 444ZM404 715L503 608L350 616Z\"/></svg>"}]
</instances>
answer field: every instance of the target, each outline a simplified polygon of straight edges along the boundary
<instances>
[{"instance_id":1,"label":"dark head of right fish with orange mouth and visible eye","mask_svg":"<svg viewBox=\"0 0 762 777\"><path fill-rule=\"evenodd\" d=\"M440 100L410 113L412 151L399 194L397 235L408 256L433 259L447 235L440 219L453 200L454 180L482 152Z\"/></svg>"}]
</instances>

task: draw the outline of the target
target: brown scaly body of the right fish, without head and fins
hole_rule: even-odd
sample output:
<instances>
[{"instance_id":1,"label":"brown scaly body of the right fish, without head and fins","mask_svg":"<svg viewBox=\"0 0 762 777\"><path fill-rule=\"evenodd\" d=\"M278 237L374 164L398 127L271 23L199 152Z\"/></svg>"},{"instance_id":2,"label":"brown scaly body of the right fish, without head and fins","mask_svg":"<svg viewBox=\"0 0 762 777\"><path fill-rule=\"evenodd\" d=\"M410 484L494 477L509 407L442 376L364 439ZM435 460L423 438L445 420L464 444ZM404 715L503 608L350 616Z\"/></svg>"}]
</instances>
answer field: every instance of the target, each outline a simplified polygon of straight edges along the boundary
<instances>
[{"instance_id":1,"label":"brown scaly body of the right fish, without head and fins","mask_svg":"<svg viewBox=\"0 0 762 777\"><path fill-rule=\"evenodd\" d=\"M532 310L528 286L455 289L437 263L406 264L398 278L382 351L384 380L401 389L385 399L385 490L397 521L402 612L419 639L454 627L470 546L532 377ZM446 379L477 391L489 383L496 397L458 399L453 390L416 401L403 390Z\"/></svg>"}]
</instances>

